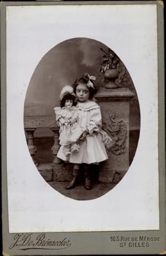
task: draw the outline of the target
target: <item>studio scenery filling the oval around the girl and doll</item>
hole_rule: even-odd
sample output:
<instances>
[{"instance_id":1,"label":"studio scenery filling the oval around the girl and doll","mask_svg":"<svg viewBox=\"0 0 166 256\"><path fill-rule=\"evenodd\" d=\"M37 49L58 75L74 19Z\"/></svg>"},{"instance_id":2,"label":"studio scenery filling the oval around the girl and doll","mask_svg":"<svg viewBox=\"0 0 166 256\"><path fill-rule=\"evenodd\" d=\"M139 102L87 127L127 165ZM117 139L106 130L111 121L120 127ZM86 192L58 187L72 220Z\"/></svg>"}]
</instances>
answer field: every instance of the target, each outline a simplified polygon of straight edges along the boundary
<instances>
[{"instance_id":1,"label":"studio scenery filling the oval around the girl and doll","mask_svg":"<svg viewBox=\"0 0 166 256\"><path fill-rule=\"evenodd\" d=\"M73 84L85 73L96 76L95 98L101 106L103 129L115 141L115 146L107 152L107 161L98 167L91 166L94 183L91 191L85 191L82 186L66 191L72 166L56 157L59 127L54 107L60 106L63 86ZM110 191L133 161L139 128L137 91L129 70L111 45L89 38L72 38L55 45L38 63L25 98L24 130L34 164L55 190L77 200L94 199Z\"/></svg>"}]
</instances>

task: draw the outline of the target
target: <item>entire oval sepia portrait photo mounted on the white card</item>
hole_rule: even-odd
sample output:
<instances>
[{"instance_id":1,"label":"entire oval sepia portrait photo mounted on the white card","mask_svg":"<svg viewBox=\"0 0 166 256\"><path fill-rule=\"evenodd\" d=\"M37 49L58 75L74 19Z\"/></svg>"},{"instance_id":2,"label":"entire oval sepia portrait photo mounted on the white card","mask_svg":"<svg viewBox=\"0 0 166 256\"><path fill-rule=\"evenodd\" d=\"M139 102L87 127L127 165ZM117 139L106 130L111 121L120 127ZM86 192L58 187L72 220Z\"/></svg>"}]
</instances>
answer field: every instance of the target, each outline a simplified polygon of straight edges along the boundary
<instances>
[{"instance_id":1,"label":"entire oval sepia portrait photo mounted on the white card","mask_svg":"<svg viewBox=\"0 0 166 256\"><path fill-rule=\"evenodd\" d=\"M76 200L111 191L134 160L140 130L121 56L90 38L55 45L30 79L24 130L27 153L56 191Z\"/></svg>"}]
</instances>

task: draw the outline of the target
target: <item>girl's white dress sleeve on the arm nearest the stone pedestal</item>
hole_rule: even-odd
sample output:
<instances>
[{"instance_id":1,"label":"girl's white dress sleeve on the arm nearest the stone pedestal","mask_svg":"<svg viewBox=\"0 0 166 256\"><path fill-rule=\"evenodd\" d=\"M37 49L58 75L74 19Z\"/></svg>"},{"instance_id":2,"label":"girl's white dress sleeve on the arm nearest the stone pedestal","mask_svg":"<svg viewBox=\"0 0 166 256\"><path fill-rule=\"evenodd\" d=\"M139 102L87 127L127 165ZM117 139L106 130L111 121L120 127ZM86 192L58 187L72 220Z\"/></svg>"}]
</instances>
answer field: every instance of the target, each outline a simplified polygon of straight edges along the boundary
<instances>
[{"instance_id":1,"label":"girl's white dress sleeve on the arm nearest the stone pedestal","mask_svg":"<svg viewBox=\"0 0 166 256\"><path fill-rule=\"evenodd\" d=\"M90 124L87 125L89 134L92 135L94 131L99 132L102 127L102 117L100 107L90 110Z\"/></svg>"}]
</instances>

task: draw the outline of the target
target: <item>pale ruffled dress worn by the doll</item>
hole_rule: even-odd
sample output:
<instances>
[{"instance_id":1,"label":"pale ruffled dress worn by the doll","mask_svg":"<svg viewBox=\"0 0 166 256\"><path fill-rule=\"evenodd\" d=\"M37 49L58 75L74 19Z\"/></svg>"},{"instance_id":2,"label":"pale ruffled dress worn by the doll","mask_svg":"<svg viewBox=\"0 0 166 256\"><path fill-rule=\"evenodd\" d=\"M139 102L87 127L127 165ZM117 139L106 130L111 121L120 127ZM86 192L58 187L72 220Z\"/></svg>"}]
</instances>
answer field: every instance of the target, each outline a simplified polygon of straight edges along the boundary
<instances>
[{"instance_id":1,"label":"pale ruffled dress worn by the doll","mask_svg":"<svg viewBox=\"0 0 166 256\"><path fill-rule=\"evenodd\" d=\"M56 121L60 126L59 144L67 146L78 141L84 130L82 130L77 123L79 119L77 107L54 107L54 111Z\"/></svg>"}]
</instances>

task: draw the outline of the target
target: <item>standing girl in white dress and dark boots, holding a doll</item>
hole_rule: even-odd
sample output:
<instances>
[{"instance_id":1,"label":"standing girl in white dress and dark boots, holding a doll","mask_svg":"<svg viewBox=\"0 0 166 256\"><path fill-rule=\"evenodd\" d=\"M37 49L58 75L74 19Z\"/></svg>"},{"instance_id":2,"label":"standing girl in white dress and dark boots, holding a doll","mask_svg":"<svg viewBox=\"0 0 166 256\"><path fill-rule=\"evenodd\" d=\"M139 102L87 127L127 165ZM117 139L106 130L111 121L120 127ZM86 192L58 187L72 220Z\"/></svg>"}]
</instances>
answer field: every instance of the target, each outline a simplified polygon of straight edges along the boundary
<instances>
[{"instance_id":1,"label":"standing girl in white dress and dark boots, holding a doll","mask_svg":"<svg viewBox=\"0 0 166 256\"><path fill-rule=\"evenodd\" d=\"M105 161L108 156L105 149L110 148L113 144L112 139L107 135L102 127L102 117L100 106L94 101L94 94L97 89L93 83L95 76L89 74L83 75L79 80L76 80L73 88L77 97L77 110L79 126L84 130L84 134L80 137L80 150L77 154L71 153L69 161L74 163L73 179L66 189L76 186L80 164L84 164L85 188L90 190L91 179L89 165L91 163L98 164Z\"/></svg>"}]
</instances>

